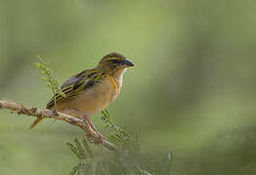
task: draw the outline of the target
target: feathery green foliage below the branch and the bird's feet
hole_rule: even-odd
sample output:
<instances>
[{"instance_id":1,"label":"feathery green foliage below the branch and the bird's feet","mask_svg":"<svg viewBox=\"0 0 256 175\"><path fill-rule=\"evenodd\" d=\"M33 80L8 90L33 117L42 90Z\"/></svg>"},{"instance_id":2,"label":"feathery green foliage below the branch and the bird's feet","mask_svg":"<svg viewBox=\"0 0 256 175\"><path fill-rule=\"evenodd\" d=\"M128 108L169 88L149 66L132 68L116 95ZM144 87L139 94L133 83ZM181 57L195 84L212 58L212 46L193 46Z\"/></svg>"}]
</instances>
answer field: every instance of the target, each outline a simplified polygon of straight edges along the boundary
<instances>
[{"instance_id":1,"label":"feathery green foliage below the branch and the bird's feet","mask_svg":"<svg viewBox=\"0 0 256 175\"><path fill-rule=\"evenodd\" d=\"M67 146L70 148L71 152L79 159L78 164L71 169L70 175L170 174L172 162L171 154L167 154L167 157L164 157L164 159L156 163L160 166L158 165L154 169L150 169L151 172L155 173L149 173L149 171L145 169L150 166L150 163L145 161L144 157L140 154L138 134L135 134L135 138L133 138L124 129L113 123L107 110L103 111L102 114L102 120L111 130L107 138L117 145L119 152L107 152L106 156L99 150L93 151L86 139L79 141L75 138L73 143L67 142Z\"/></svg>"}]
</instances>

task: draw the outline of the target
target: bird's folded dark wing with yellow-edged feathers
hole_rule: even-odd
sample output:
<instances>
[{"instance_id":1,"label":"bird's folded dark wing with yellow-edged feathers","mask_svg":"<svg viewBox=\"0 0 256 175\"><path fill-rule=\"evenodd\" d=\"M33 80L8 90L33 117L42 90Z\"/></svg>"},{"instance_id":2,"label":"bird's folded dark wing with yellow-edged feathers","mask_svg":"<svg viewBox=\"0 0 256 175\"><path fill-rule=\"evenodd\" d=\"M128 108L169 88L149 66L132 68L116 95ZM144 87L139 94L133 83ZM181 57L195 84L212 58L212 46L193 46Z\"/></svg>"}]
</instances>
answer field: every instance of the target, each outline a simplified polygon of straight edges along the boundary
<instances>
[{"instance_id":1,"label":"bird's folded dark wing with yellow-edged feathers","mask_svg":"<svg viewBox=\"0 0 256 175\"><path fill-rule=\"evenodd\" d=\"M67 99L75 98L81 91L94 87L105 78L106 74L98 69L84 70L73 75L67 79L61 87L64 95L59 93L55 94L48 102L46 109L51 109L55 105L55 99L56 102L59 103Z\"/></svg>"}]
</instances>

